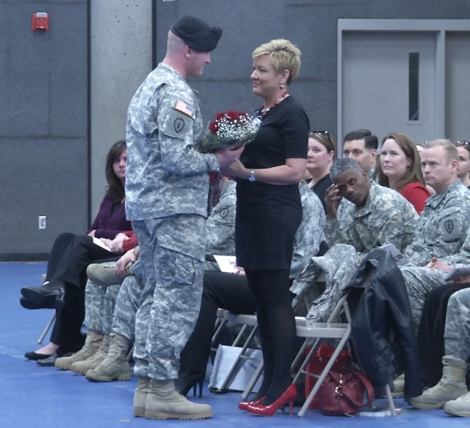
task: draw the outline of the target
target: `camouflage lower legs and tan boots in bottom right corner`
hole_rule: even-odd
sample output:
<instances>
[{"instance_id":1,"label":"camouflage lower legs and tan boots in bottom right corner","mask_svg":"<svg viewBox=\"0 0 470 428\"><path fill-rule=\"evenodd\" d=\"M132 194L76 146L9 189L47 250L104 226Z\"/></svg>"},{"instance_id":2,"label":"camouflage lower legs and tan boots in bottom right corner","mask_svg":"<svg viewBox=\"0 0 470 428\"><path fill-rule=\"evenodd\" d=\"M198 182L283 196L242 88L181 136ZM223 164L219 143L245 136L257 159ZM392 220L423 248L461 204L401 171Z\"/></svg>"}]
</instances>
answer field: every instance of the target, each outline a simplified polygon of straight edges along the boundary
<instances>
[{"instance_id":1,"label":"camouflage lower legs and tan boots in bottom right corner","mask_svg":"<svg viewBox=\"0 0 470 428\"><path fill-rule=\"evenodd\" d=\"M460 282L468 286L470 276ZM470 358L470 288L463 288L450 296L444 347L443 371L438 384L409 402L416 408L444 408L450 415L470 417L470 393L465 383L466 362Z\"/></svg>"}]
</instances>

